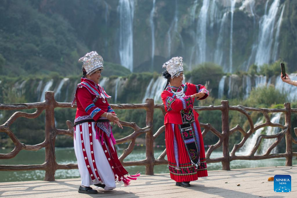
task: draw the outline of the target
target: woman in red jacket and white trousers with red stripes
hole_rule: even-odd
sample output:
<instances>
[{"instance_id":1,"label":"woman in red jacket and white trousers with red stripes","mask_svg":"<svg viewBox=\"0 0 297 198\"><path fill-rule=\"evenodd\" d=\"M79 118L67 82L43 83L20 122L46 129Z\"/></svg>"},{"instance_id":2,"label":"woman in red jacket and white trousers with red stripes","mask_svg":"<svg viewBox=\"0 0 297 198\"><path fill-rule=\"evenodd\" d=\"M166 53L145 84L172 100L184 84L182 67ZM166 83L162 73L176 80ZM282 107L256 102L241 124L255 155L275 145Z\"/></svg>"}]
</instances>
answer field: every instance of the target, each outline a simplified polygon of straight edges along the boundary
<instances>
[{"instance_id":1,"label":"woman in red jacket and white trousers with red stripes","mask_svg":"<svg viewBox=\"0 0 297 198\"><path fill-rule=\"evenodd\" d=\"M78 84L72 105L77 103L74 121L74 150L81 177L78 192L97 194L90 185L111 190L115 181L129 185L128 172L118 159L112 134L113 122L121 129L119 118L107 102L111 96L98 84L103 70L103 58L96 51L87 53L79 61L83 62L83 77Z\"/></svg>"}]
</instances>

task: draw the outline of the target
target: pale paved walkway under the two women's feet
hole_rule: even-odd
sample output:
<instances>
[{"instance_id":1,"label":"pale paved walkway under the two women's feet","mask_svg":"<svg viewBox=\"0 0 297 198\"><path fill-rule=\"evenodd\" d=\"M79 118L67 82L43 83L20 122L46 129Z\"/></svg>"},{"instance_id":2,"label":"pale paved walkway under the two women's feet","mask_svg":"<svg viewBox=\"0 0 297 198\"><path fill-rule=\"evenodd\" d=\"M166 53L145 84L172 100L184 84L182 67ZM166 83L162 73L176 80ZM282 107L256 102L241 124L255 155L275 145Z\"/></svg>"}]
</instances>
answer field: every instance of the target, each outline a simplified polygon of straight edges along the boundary
<instances>
[{"instance_id":1,"label":"pale paved walkway under the two women's feet","mask_svg":"<svg viewBox=\"0 0 297 198\"><path fill-rule=\"evenodd\" d=\"M169 174L142 175L129 187L122 183L112 191L98 188L98 194L77 192L80 179L61 179L53 182L24 181L0 183L0 197L297 197L297 166L209 171L208 177L191 182L191 187L175 186ZM291 175L292 191L276 193L274 175ZM228 182L228 183L226 183ZM264 183L261 183L264 182ZM240 184L240 186L237 186Z\"/></svg>"}]
</instances>

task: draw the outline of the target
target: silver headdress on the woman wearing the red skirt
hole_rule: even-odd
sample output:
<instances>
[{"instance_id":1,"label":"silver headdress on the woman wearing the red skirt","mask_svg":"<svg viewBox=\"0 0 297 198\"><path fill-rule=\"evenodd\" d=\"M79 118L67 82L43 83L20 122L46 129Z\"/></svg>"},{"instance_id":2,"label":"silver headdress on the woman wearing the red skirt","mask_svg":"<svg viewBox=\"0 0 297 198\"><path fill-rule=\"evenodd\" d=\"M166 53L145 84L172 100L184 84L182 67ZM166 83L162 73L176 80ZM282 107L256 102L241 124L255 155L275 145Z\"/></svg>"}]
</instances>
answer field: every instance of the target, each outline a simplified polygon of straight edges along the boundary
<instances>
[{"instance_id":1,"label":"silver headdress on the woman wearing the red skirt","mask_svg":"<svg viewBox=\"0 0 297 198\"><path fill-rule=\"evenodd\" d=\"M171 58L169 61L163 64L163 68L166 68L171 78L180 75L184 72L183 57L177 56Z\"/></svg>"}]
</instances>

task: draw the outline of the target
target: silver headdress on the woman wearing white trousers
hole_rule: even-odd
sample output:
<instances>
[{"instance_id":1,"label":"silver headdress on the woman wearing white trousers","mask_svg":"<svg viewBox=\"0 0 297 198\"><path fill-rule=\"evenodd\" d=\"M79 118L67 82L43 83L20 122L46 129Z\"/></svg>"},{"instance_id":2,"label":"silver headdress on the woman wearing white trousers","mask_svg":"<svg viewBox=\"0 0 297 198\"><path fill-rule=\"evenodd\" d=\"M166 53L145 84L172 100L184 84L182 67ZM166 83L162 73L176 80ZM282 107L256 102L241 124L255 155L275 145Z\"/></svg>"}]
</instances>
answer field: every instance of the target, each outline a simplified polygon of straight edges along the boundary
<instances>
[{"instance_id":1,"label":"silver headdress on the woman wearing white trousers","mask_svg":"<svg viewBox=\"0 0 297 198\"><path fill-rule=\"evenodd\" d=\"M87 75L91 75L99 69L103 70L103 58L96 51L86 53L78 62L83 62L83 68L85 68Z\"/></svg>"}]
</instances>

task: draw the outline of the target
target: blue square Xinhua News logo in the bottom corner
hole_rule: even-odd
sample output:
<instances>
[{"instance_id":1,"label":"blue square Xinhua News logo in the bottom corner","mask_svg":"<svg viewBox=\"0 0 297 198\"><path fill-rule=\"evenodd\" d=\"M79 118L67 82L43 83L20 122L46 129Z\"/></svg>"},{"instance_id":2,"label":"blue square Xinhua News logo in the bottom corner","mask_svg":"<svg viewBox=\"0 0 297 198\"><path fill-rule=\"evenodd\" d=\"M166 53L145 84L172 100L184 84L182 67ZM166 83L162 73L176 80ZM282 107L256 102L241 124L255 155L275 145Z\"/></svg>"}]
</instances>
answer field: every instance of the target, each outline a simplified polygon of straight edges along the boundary
<instances>
[{"instance_id":1,"label":"blue square Xinhua News logo in the bottom corner","mask_svg":"<svg viewBox=\"0 0 297 198\"><path fill-rule=\"evenodd\" d=\"M274 176L274 192L291 192L291 175Z\"/></svg>"}]
</instances>

